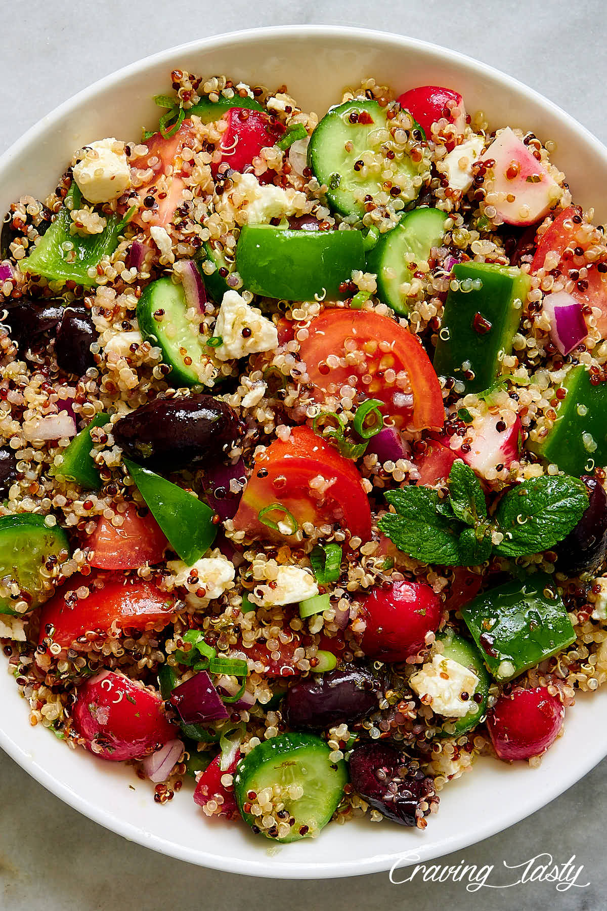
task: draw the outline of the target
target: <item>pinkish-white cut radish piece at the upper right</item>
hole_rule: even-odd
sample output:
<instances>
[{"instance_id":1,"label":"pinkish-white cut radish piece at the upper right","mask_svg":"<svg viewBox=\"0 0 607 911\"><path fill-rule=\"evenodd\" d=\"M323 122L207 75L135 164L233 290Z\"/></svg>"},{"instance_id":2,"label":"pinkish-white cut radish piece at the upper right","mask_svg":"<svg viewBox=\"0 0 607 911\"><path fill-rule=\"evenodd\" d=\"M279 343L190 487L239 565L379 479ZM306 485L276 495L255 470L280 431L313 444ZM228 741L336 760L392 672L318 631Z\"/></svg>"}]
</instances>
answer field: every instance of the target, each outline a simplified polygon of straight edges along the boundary
<instances>
[{"instance_id":1,"label":"pinkish-white cut radish piece at the upper right","mask_svg":"<svg viewBox=\"0 0 607 911\"><path fill-rule=\"evenodd\" d=\"M482 161L494 160L485 189L496 193L493 203L506 224L532 225L544 218L561 199L561 188L510 127L501 130Z\"/></svg>"}]
</instances>

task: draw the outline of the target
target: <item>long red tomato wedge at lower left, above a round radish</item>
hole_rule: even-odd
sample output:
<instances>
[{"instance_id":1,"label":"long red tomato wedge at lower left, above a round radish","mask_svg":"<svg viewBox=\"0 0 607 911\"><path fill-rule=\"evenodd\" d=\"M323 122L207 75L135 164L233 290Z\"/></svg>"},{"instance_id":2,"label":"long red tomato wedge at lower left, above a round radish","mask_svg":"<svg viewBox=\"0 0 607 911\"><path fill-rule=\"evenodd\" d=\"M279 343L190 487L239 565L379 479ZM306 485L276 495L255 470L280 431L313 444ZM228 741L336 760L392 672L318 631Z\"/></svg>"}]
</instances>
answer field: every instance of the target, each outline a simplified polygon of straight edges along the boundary
<instances>
[{"instance_id":1,"label":"long red tomato wedge at lower left, above a round radish","mask_svg":"<svg viewBox=\"0 0 607 911\"><path fill-rule=\"evenodd\" d=\"M76 590L83 587L89 594L78 598ZM110 630L166 626L174 605L172 595L137 577L77 573L43 607L39 641L50 635L62 647L77 649L76 640L89 631L105 637ZM54 628L52 633L46 631L49 624Z\"/></svg>"}]
</instances>

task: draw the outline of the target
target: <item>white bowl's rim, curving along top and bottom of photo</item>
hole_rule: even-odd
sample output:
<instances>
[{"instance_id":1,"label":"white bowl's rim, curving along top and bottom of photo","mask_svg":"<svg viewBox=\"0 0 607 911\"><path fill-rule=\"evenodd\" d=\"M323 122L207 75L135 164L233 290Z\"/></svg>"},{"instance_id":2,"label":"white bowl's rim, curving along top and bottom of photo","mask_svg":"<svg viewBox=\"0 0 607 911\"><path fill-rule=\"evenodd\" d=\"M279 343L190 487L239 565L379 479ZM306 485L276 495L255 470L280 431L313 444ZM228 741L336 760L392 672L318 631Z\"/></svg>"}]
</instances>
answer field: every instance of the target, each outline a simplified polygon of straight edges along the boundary
<instances>
[{"instance_id":1,"label":"white bowl's rim, curving along top and bottom of photo","mask_svg":"<svg viewBox=\"0 0 607 911\"><path fill-rule=\"evenodd\" d=\"M116 88L129 77L134 77L145 72L148 67L169 63L178 58L178 56L192 51L204 52L205 50L213 49L216 46L225 43L227 40L229 40L232 49L235 49L238 45L248 42L250 38L276 38L277 40L284 38L287 40L296 37L307 37L313 40L317 36L322 36L324 39L334 38L336 41L348 37L357 39L364 37L368 38L369 41L376 46L384 44L393 47L395 44L398 44L403 52L406 52L408 48L415 48L422 52L426 52L427 54L431 54L440 62L458 64L468 69L470 73L478 73L481 77L488 75L493 82L500 83L502 87L514 87L518 89L523 95L530 98L537 105L549 111L553 117L559 120L566 120L570 127L573 126L576 131L580 133L583 142L592 148L593 153L596 154L599 159L602 159L604 166L607 169L607 148L605 148L602 142L596 138L588 128L585 128L579 121L572 118L571 115L567 114L549 98L541 95L540 92L526 86L519 79L511 77L501 70L491 67L491 65L485 64L474 57L461 54L459 51L450 50L450 48L435 45L418 38L390 34L389 32L359 26L288 25L239 29L234 32L222 32L218 35L197 38L193 41L172 46L165 50L158 51L155 54L142 57L131 64L127 64L125 67L120 67L112 73L107 74L105 77L97 79L91 85L81 89L75 95L57 105L32 127L28 128L20 138L17 138L15 142L9 146L9 148L5 149L2 155L0 155L0 178L2 177L4 170L13 163L25 148L28 148L32 143L44 136L48 122L50 122L52 126L59 118L76 110L87 99L95 97L97 92L105 92L108 89L111 90ZM19 742L15 741L7 732L5 732L1 725L0 747L15 760L15 763L20 765L26 773L30 774L38 783L42 784L47 791L55 794L56 797L73 807L79 813L94 820L96 823L103 825L111 832L122 835L129 841L137 842L138 844L158 851L160 854L170 855L178 860L185 860L189 863L204 865L212 869L239 875L316 879L321 877L366 875L386 871L396 861L400 862L405 855L410 855L410 860L399 863L400 866L404 866L407 863L416 863L419 859L415 853L415 848L411 848L410 852L371 855L363 860L356 859L346 862L328 862L322 864L314 862L274 862L269 865L268 857L266 856L263 846L261 847L259 857L256 860L231 858L228 855L216 855L209 851L184 848L183 845L175 845L159 835L146 832L137 824L133 824L127 819L119 817L111 810L90 804L66 783L57 781L53 773L46 771L44 765L36 762L33 756L25 752ZM544 786L542 789L535 789L531 799L524 805L523 812L521 812L520 807L512 808L510 821L508 823L503 824L503 820L500 820L500 822L496 824L491 819L491 816L486 815L482 823L475 826L472 835L465 834L464 830L460 837L453 838L450 840L449 844L445 844L443 846L444 850L441 848L442 853L440 855L424 854L424 860L427 861L434 857L444 856L446 853L460 850L461 848L470 846L470 844L477 844L481 840L489 838L491 835L504 831L504 829L511 825L520 822L522 819L525 819L527 816L540 810L546 804L551 803L552 800L570 788L574 783L578 782L602 760L606 753L607 749L603 749L598 741L595 742L594 749L592 749L592 746L587 747L585 753L581 755L581 762L577 763L575 767L568 768L564 773L561 773L558 779L549 782L548 785ZM453 787L454 784L457 786L456 783L452 783L450 787Z\"/></svg>"}]
</instances>

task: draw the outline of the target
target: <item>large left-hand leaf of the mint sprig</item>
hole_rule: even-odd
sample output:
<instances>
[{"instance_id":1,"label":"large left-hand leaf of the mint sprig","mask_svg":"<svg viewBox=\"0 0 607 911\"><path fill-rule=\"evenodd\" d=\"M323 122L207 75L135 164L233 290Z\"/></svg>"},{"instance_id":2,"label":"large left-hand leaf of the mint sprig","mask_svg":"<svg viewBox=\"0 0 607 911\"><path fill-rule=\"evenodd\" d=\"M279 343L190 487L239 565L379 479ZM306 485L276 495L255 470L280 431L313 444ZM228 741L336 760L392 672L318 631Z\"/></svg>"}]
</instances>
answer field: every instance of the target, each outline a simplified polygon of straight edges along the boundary
<instances>
[{"instance_id":1,"label":"large left-hand leaf of the mint sprig","mask_svg":"<svg viewBox=\"0 0 607 911\"><path fill-rule=\"evenodd\" d=\"M379 519L379 528L403 553L423 563L460 566L459 528L437 512L439 495L428 487L389 490L389 504L396 509Z\"/></svg>"}]
</instances>

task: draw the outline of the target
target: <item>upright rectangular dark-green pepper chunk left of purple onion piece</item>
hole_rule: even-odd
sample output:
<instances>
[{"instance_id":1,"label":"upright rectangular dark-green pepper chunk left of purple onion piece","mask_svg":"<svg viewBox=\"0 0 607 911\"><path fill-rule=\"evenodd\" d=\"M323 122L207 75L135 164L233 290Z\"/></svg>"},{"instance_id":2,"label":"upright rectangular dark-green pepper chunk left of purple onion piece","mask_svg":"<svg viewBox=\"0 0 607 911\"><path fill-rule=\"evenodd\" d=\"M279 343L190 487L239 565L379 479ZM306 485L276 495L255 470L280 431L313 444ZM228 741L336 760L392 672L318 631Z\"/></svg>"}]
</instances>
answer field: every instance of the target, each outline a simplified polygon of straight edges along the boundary
<instances>
[{"instance_id":1,"label":"upright rectangular dark-green pepper chunk left of purple onion piece","mask_svg":"<svg viewBox=\"0 0 607 911\"><path fill-rule=\"evenodd\" d=\"M434 369L461 380L467 393L480 393L511 353L531 280L514 266L485 262L460 262L452 274L460 288L447 295Z\"/></svg>"}]
</instances>

